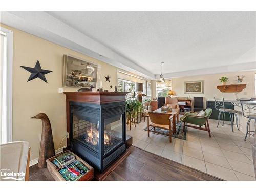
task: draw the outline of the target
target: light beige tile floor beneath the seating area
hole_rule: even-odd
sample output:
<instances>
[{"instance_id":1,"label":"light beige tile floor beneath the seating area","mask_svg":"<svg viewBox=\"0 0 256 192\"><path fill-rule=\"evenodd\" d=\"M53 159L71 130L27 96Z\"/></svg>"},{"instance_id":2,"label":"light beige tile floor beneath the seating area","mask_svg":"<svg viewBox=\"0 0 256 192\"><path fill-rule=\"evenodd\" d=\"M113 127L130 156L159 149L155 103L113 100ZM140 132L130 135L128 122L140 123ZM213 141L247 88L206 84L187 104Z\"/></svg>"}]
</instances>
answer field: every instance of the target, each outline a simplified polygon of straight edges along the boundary
<instances>
[{"instance_id":1,"label":"light beige tile floor beneath the seating area","mask_svg":"<svg viewBox=\"0 0 256 192\"><path fill-rule=\"evenodd\" d=\"M196 168L202 172L228 181L255 181L252 163L252 138L244 141L244 134L238 130L231 131L231 126L224 124L217 128L217 120L209 120L211 138L208 132L188 128L186 140L150 133L143 129L141 123L127 128L127 134L133 136L133 145L167 159Z\"/></svg>"}]
</instances>

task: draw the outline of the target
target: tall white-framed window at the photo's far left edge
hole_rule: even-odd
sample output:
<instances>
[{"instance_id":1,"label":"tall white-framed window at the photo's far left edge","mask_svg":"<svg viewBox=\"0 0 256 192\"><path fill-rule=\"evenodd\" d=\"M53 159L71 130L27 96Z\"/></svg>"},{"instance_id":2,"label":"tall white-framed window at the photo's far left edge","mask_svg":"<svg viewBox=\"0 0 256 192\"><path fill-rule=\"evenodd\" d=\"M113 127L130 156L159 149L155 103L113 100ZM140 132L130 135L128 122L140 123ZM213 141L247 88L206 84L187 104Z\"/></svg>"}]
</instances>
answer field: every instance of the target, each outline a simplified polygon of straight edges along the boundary
<instances>
[{"instance_id":1,"label":"tall white-framed window at the photo's far left edge","mask_svg":"<svg viewBox=\"0 0 256 192\"><path fill-rule=\"evenodd\" d=\"M0 27L0 143L12 141L12 39Z\"/></svg>"}]
</instances>

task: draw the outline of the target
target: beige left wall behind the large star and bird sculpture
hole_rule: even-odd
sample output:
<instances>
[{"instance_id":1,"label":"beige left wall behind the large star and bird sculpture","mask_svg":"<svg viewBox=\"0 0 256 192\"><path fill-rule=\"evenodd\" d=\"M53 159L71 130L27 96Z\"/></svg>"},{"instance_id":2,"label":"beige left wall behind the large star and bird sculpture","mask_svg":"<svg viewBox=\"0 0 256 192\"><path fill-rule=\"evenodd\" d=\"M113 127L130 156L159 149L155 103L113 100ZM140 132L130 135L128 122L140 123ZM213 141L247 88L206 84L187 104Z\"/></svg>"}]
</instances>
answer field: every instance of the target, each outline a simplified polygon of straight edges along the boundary
<instances>
[{"instance_id":1,"label":"beige left wall behind the large star and bird sculpture","mask_svg":"<svg viewBox=\"0 0 256 192\"><path fill-rule=\"evenodd\" d=\"M98 63L101 68L99 78L103 89L114 91L117 85L117 68L104 62L82 55L70 49L53 44L34 35L2 25L13 31L13 140L25 140L31 147L31 160L38 157L41 140L41 121L30 117L44 112L48 115L53 131L55 150L66 136L66 100L58 93L62 87L63 54L70 54L89 62ZM20 66L34 67L37 59L42 69L53 72L46 75L48 83L39 78L27 82L30 73ZM105 82L104 76L111 77ZM77 88L63 88L75 91ZM66 140L62 146L66 145Z\"/></svg>"}]
</instances>

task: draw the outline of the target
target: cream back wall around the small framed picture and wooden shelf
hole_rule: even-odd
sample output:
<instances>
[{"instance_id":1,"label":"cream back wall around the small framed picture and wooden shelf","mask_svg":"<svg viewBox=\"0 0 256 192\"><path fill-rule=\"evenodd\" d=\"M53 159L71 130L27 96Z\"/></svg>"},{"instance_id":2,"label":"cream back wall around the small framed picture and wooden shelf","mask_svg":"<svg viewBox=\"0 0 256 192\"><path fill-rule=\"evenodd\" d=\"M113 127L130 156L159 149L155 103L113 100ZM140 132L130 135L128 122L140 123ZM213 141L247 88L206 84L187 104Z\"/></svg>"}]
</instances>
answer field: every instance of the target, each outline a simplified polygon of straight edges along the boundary
<instances>
[{"instance_id":1,"label":"cream back wall around the small framed picture and wooden shelf","mask_svg":"<svg viewBox=\"0 0 256 192\"><path fill-rule=\"evenodd\" d=\"M221 70L221 69L220 69ZM254 88L254 74L255 71L247 72L234 72L234 73L225 73L225 74L212 74L212 75L200 75L200 76L190 76L182 78L173 78L172 79L172 90L175 92L175 96L178 97L204 97L205 100L214 100L214 97L222 98L226 100L234 100L236 96L234 93L222 93L216 87L220 85L219 79L223 76L228 77L230 82L227 84L237 83L236 75L245 75L243 83L247 84L246 88L238 93L238 98L250 98L255 96ZM184 94L184 82L185 81L204 81L204 93L203 94ZM152 82L155 84L155 82ZM154 95L156 97L156 88L154 88Z\"/></svg>"}]
</instances>

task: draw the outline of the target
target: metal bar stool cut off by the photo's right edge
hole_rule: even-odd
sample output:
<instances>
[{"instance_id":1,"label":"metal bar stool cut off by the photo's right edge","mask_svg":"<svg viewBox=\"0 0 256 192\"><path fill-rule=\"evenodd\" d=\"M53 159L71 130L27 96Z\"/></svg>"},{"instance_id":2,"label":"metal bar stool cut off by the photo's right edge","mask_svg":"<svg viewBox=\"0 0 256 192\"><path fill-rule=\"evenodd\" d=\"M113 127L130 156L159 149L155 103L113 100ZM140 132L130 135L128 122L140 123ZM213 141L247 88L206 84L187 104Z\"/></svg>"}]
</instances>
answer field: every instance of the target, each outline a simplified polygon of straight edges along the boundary
<instances>
[{"instance_id":1,"label":"metal bar stool cut off by the photo's right edge","mask_svg":"<svg viewBox=\"0 0 256 192\"><path fill-rule=\"evenodd\" d=\"M243 112L243 116L248 118L248 121L247 121L247 124L246 124L246 135L245 135L245 138L244 140L246 140L247 138L247 135L253 135L253 133L256 132L256 130L254 131L250 131L249 130L249 125L250 125L250 121L252 119L254 119L254 129L255 129L255 124L256 124L256 114L250 114L250 110L256 110L256 105L254 106L250 106L250 103L248 103L248 101L241 101L240 100L240 103L241 103L241 107L242 107L242 112ZM248 110L248 111L247 111ZM245 115L245 113L248 113L248 115ZM250 132L253 132L252 134Z\"/></svg>"}]
</instances>

